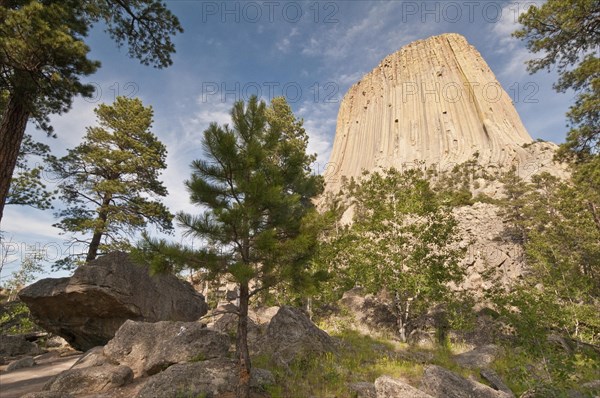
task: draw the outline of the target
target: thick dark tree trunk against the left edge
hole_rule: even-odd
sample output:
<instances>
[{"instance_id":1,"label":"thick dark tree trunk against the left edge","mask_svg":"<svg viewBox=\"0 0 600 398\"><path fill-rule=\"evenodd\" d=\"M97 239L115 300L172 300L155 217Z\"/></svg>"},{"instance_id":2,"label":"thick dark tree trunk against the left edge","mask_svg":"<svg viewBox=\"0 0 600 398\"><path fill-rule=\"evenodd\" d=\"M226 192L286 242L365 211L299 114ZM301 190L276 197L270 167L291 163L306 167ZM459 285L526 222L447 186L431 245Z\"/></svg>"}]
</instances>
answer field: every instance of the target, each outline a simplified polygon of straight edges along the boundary
<instances>
[{"instance_id":1,"label":"thick dark tree trunk against the left edge","mask_svg":"<svg viewBox=\"0 0 600 398\"><path fill-rule=\"evenodd\" d=\"M11 95L0 122L0 222L28 119L27 108Z\"/></svg>"}]
</instances>

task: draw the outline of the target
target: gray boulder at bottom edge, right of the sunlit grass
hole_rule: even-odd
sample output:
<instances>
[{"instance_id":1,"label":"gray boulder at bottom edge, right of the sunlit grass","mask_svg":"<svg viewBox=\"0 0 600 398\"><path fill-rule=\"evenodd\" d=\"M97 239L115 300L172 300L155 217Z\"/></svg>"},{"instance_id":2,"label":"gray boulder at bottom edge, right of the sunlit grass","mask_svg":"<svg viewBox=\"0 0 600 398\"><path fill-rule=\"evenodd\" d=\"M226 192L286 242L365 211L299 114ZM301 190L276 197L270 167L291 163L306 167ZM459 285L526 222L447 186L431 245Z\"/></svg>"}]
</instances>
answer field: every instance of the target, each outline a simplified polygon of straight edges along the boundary
<instances>
[{"instance_id":1,"label":"gray boulder at bottom edge, right of the sunlit grass","mask_svg":"<svg viewBox=\"0 0 600 398\"><path fill-rule=\"evenodd\" d=\"M436 365L425 368L421 390L436 398L512 398L510 394L467 380Z\"/></svg>"}]
</instances>

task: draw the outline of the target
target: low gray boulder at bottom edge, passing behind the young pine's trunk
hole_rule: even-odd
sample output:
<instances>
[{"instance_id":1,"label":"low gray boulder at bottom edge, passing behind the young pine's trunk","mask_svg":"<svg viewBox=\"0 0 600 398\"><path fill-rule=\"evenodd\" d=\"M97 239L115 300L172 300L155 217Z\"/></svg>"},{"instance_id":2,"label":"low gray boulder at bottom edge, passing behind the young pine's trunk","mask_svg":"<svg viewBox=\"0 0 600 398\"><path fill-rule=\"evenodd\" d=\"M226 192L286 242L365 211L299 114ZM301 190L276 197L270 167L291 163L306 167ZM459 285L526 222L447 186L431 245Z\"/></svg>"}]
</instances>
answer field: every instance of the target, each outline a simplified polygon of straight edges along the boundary
<instances>
[{"instance_id":1,"label":"low gray boulder at bottom edge, passing behind the young pine's trunk","mask_svg":"<svg viewBox=\"0 0 600 398\"><path fill-rule=\"evenodd\" d=\"M266 380L270 383L272 375L268 377L265 371L252 369L251 388L264 385ZM234 392L237 383L238 366L233 359L180 363L150 377L136 398L213 397Z\"/></svg>"}]
</instances>

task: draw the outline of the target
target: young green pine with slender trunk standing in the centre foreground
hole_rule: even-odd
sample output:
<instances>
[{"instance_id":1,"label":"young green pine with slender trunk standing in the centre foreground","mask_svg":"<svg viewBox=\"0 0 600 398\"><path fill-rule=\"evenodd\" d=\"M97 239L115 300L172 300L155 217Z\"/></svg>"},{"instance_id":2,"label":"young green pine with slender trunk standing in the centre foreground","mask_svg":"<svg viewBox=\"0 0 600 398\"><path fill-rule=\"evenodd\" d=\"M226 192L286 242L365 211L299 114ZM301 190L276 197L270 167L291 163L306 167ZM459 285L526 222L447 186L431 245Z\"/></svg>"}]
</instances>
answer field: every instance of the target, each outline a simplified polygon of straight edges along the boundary
<instances>
[{"instance_id":1,"label":"young green pine with slender trunk standing in the centre foreground","mask_svg":"<svg viewBox=\"0 0 600 398\"><path fill-rule=\"evenodd\" d=\"M202 213L177 216L206 247L182 252L173 250L177 245L150 241L145 250L162 249L154 261L157 270L183 262L238 284L237 396L247 398L249 301L276 285L302 286L310 280L309 260L320 224L312 199L323 184L310 172L315 157L306 154L302 121L284 98L273 99L269 107L256 97L246 105L237 102L231 118L231 127L213 123L204 131L205 158L192 163L192 177L186 181L192 203Z\"/></svg>"}]
</instances>

